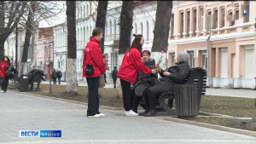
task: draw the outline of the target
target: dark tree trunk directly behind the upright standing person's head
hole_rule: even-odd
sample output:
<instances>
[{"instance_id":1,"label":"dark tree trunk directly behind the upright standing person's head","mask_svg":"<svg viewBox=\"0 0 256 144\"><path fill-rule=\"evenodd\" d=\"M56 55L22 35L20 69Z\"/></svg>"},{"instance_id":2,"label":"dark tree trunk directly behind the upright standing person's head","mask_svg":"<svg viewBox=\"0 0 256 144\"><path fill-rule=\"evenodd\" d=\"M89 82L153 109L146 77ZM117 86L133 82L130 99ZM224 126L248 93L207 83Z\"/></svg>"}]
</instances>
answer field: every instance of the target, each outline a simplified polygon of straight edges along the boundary
<instances>
[{"instance_id":1,"label":"dark tree trunk directly behind the upright standing person's head","mask_svg":"<svg viewBox=\"0 0 256 144\"><path fill-rule=\"evenodd\" d=\"M96 27L102 28L102 40L100 41L100 47L102 49L102 54L104 54L104 37L105 37L105 23L106 23L106 14L108 9L108 1L99 1L97 8L97 18L96 18Z\"/></svg>"}]
</instances>

